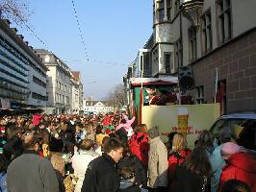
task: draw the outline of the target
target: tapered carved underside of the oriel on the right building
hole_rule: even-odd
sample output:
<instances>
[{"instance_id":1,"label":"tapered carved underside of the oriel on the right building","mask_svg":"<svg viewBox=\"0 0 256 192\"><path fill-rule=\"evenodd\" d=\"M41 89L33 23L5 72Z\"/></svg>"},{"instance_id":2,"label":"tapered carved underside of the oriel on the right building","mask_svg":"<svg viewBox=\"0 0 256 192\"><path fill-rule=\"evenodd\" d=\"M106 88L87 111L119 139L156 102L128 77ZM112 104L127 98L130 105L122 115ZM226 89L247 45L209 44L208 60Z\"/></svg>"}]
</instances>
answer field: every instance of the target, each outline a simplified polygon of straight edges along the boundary
<instances>
[{"instance_id":1,"label":"tapered carved underside of the oriel on the right building","mask_svg":"<svg viewBox=\"0 0 256 192\"><path fill-rule=\"evenodd\" d=\"M182 4L183 15L188 18L195 27L200 25L200 15L202 13L203 4L203 0L187 0Z\"/></svg>"}]
</instances>

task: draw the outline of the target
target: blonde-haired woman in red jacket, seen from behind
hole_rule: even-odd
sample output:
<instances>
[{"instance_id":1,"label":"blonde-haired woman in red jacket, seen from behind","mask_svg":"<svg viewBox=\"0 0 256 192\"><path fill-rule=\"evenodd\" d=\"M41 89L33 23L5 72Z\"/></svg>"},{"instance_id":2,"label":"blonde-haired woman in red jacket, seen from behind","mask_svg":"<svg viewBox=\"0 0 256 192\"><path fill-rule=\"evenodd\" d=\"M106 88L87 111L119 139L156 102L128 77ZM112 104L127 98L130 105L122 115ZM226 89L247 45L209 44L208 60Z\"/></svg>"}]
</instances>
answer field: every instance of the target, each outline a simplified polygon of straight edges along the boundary
<instances>
[{"instance_id":1,"label":"blonde-haired woman in red jacket, seen from behind","mask_svg":"<svg viewBox=\"0 0 256 192\"><path fill-rule=\"evenodd\" d=\"M192 151L187 148L186 136L182 133L175 133L172 140L172 149L168 155L168 180L169 188L174 181L175 169L180 166Z\"/></svg>"}]
</instances>

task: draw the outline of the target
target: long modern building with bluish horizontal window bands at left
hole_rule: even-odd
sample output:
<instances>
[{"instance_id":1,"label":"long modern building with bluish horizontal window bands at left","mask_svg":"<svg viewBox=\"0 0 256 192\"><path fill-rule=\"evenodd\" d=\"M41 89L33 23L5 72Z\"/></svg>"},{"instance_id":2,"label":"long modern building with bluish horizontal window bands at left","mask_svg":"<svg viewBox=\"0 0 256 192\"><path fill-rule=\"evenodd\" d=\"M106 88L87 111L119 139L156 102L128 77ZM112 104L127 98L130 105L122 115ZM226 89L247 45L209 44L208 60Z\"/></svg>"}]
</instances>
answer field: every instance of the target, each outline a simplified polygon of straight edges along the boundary
<instances>
[{"instance_id":1,"label":"long modern building with bluish horizontal window bands at left","mask_svg":"<svg viewBox=\"0 0 256 192\"><path fill-rule=\"evenodd\" d=\"M45 107L48 69L10 24L0 20L0 98L5 103L1 108Z\"/></svg>"}]
</instances>

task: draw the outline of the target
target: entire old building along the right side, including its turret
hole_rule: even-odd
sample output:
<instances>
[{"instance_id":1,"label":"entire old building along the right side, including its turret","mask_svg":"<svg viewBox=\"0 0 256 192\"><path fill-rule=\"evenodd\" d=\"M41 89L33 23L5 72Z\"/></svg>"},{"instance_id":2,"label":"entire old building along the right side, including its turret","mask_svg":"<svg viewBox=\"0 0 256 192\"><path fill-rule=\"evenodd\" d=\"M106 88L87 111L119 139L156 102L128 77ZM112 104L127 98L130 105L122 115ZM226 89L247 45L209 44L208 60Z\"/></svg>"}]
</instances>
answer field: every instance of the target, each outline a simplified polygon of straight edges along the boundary
<instances>
[{"instance_id":1,"label":"entire old building along the right side, including its turret","mask_svg":"<svg viewBox=\"0 0 256 192\"><path fill-rule=\"evenodd\" d=\"M255 0L153 0L151 61L139 52L129 65L123 78L128 103L129 79L141 77L144 65L151 65L151 77L177 76L190 66L194 104L217 102L222 113L255 110L255 8Z\"/></svg>"}]
</instances>

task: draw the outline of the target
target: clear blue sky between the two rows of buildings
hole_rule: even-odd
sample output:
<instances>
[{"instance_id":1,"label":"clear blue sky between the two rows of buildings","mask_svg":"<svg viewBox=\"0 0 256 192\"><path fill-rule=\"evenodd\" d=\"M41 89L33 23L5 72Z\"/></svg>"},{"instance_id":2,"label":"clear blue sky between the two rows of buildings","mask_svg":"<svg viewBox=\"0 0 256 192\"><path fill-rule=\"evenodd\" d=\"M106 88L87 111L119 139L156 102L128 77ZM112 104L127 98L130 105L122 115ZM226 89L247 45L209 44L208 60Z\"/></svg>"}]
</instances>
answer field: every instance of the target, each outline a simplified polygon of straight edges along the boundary
<instances>
[{"instance_id":1,"label":"clear blue sky between the two rows of buildings","mask_svg":"<svg viewBox=\"0 0 256 192\"><path fill-rule=\"evenodd\" d=\"M30 0L30 25L50 51L82 73L87 96L104 98L122 83L127 65L152 34L150 0L74 0L90 60L79 36L71 0ZM34 48L45 48L27 29L19 28Z\"/></svg>"}]
</instances>

